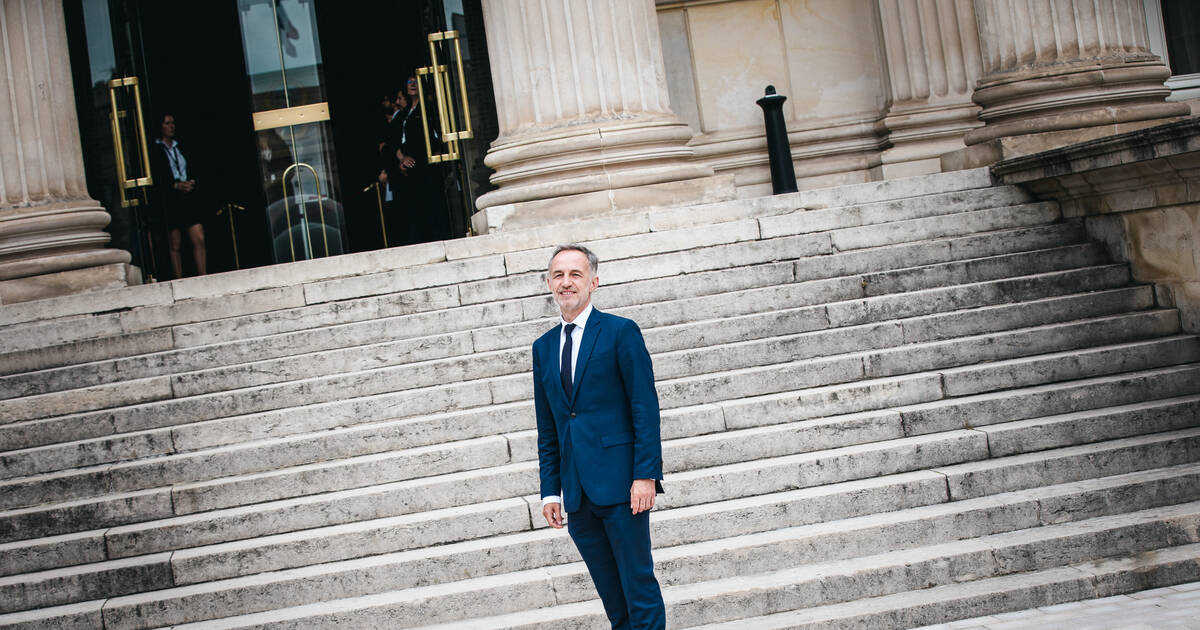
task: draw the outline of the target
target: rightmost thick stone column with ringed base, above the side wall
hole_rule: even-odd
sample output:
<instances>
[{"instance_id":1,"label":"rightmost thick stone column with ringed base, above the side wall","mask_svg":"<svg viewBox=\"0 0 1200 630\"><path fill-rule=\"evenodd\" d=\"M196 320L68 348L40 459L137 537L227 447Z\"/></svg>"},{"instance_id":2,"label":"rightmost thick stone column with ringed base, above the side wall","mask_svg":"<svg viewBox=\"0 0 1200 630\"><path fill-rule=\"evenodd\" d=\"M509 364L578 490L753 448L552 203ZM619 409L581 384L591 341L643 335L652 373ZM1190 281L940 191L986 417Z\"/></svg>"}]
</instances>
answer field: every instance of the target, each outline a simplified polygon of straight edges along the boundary
<instances>
[{"instance_id":1,"label":"rightmost thick stone column with ringed base, above the side wall","mask_svg":"<svg viewBox=\"0 0 1200 630\"><path fill-rule=\"evenodd\" d=\"M986 125L968 145L1004 138L1012 157L1190 112L1165 102L1171 72L1150 52L1142 0L976 0L976 18Z\"/></svg>"}]
</instances>

